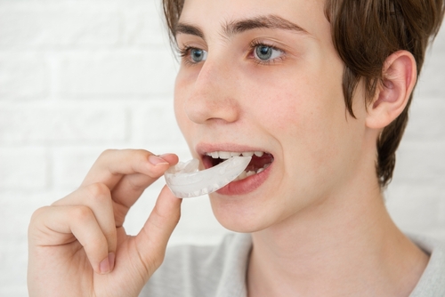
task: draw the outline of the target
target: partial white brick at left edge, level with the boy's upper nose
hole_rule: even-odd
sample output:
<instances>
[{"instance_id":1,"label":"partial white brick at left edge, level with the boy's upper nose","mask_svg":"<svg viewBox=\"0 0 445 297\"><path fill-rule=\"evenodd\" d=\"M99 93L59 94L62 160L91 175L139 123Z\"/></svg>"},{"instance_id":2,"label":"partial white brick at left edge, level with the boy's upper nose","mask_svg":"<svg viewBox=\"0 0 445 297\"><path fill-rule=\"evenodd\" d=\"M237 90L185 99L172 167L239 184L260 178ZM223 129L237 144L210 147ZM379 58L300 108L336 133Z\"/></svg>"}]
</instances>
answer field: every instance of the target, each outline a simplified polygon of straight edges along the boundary
<instances>
[{"instance_id":1,"label":"partial white brick at left edge, level with the boy's upper nose","mask_svg":"<svg viewBox=\"0 0 445 297\"><path fill-rule=\"evenodd\" d=\"M41 54L0 52L0 100L43 97L49 90L48 75Z\"/></svg>"}]
</instances>

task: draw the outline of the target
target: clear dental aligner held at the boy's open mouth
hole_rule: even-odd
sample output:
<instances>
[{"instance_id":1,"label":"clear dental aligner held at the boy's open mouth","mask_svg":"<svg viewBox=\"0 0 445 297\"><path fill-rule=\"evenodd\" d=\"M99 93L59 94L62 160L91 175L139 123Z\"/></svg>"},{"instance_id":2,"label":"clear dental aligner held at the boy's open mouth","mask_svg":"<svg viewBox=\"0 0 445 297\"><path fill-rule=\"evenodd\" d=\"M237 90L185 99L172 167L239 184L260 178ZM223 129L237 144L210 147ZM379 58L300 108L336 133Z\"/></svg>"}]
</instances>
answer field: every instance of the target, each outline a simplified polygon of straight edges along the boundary
<instances>
[{"instance_id":1,"label":"clear dental aligner held at the boy's open mouth","mask_svg":"<svg viewBox=\"0 0 445 297\"><path fill-rule=\"evenodd\" d=\"M198 197L223 188L235 180L249 164L252 157L231 157L219 165L198 171L198 159L170 167L164 177L176 197Z\"/></svg>"}]
</instances>

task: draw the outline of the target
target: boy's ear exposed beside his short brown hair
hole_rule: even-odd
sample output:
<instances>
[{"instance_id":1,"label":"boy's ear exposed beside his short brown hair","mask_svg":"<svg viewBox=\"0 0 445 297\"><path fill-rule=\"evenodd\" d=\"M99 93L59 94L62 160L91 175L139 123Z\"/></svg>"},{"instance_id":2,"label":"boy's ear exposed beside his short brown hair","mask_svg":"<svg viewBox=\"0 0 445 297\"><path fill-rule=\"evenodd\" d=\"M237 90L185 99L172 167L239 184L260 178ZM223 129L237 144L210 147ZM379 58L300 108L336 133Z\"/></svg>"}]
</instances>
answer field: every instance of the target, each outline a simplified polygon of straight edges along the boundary
<instances>
[{"instance_id":1,"label":"boy's ear exposed beside his short brown hair","mask_svg":"<svg viewBox=\"0 0 445 297\"><path fill-rule=\"evenodd\" d=\"M410 52L394 52L384 61L383 81L377 86L374 100L368 106L368 128L383 129L401 114L416 79L416 60Z\"/></svg>"}]
</instances>

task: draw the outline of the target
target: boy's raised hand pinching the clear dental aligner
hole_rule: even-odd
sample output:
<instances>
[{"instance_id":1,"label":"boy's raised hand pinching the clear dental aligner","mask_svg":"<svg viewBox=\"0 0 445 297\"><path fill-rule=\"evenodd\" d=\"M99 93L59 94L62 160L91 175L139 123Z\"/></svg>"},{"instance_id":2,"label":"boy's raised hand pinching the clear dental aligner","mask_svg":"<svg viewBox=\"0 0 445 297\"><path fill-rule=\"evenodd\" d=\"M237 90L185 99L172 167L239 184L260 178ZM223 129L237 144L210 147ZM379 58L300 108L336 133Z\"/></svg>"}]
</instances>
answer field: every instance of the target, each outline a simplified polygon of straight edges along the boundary
<instances>
[{"instance_id":1,"label":"boy's raised hand pinching the clear dental aligner","mask_svg":"<svg viewBox=\"0 0 445 297\"><path fill-rule=\"evenodd\" d=\"M28 229L30 296L137 296L164 259L182 199L164 187L142 230L123 223L144 189L178 162L145 150L107 150L79 189L38 209Z\"/></svg>"}]
</instances>

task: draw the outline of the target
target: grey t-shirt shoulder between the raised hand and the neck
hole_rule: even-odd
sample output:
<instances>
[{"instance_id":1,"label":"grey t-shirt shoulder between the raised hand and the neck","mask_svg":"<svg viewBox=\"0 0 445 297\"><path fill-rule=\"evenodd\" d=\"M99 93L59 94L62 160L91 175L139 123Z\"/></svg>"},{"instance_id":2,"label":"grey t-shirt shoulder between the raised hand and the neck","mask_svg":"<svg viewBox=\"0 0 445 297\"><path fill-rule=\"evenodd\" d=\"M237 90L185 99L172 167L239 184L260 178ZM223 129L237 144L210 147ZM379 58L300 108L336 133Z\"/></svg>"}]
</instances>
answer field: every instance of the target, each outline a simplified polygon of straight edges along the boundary
<instances>
[{"instance_id":1,"label":"grey t-shirt shoulder between the raised hand and the neck","mask_svg":"<svg viewBox=\"0 0 445 297\"><path fill-rule=\"evenodd\" d=\"M244 296L251 247L248 234L229 234L214 246L169 247L141 296Z\"/></svg>"}]
</instances>

